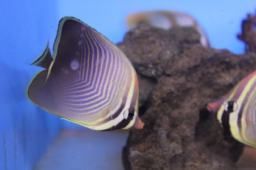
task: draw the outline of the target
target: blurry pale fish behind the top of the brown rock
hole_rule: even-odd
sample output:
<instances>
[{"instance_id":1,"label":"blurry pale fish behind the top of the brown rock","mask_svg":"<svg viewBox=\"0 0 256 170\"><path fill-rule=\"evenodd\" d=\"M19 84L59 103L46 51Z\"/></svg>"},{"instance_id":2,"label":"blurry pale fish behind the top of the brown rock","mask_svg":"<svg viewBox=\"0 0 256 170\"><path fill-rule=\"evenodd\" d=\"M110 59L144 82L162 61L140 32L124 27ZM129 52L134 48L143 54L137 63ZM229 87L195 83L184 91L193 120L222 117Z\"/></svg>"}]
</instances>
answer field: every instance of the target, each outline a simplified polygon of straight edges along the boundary
<instances>
[{"instance_id":1,"label":"blurry pale fish behind the top of the brown rock","mask_svg":"<svg viewBox=\"0 0 256 170\"><path fill-rule=\"evenodd\" d=\"M196 22L196 20L183 12L179 11L143 11L130 14L126 19L129 29L137 27L141 22L152 25L153 27L170 29L174 25L180 27L193 27L200 33L200 43L205 47L209 47L209 41L204 29Z\"/></svg>"}]
</instances>

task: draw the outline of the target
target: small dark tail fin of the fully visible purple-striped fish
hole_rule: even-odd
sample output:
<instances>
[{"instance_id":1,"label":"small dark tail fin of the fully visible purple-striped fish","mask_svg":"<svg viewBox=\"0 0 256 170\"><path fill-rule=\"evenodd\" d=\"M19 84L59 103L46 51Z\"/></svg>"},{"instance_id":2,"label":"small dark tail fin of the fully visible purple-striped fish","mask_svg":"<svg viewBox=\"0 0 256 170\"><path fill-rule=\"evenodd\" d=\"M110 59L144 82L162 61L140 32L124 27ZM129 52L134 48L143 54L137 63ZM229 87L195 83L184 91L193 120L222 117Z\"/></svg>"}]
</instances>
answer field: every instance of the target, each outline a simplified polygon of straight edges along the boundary
<instances>
[{"instance_id":1,"label":"small dark tail fin of the fully visible purple-striped fish","mask_svg":"<svg viewBox=\"0 0 256 170\"><path fill-rule=\"evenodd\" d=\"M47 46L46 49L44 49L44 52L30 65L43 67L44 69L49 70L49 66L51 65L52 61L53 59L49 50L49 42L47 42Z\"/></svg>"}]
</instances>

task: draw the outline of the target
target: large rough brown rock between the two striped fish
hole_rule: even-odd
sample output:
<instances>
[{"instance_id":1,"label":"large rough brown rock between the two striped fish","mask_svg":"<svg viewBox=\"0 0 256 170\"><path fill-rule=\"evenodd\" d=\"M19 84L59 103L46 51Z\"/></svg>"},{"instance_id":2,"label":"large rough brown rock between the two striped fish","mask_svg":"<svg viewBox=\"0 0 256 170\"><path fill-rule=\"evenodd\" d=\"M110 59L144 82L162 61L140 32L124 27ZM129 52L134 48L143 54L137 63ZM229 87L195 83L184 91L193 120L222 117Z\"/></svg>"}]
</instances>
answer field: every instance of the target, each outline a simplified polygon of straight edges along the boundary
<instances>
[{"instance_id":1,"label":"large rough brown rock between the two striped fish","mask_svg":"<svg viewBox=\"0 0 256 170\"><path fill-rule=\"evenodd\" d=\"M256 70L256 54L204 48L193 28L140 24L118 46L139 78L139 112L123 149L125 169L236 169L243 145L224 137L206 105Z\"/></svg>"}]
</instances>

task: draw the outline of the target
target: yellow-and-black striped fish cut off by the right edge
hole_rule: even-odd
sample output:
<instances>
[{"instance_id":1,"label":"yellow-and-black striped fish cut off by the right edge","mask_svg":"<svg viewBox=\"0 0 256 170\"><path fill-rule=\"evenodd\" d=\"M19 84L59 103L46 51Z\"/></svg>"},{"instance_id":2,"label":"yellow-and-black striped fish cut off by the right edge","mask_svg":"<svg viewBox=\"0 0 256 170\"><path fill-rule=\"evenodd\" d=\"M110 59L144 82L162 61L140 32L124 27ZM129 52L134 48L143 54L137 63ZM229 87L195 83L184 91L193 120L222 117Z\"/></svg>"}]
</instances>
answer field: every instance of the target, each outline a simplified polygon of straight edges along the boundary
<instances>
[{"instance_id":1,"label":"yellow-and-black striped fish cut off by the right edge","mask_svg":"<svg viewBox=\"0 0 256 170\"><path fill-rule=\"evenodd\" d=\"M256 71L243 78L221 100L209 103L207 109L217 116L224 134L256 147Z\"/></svg>"}]
</instances>

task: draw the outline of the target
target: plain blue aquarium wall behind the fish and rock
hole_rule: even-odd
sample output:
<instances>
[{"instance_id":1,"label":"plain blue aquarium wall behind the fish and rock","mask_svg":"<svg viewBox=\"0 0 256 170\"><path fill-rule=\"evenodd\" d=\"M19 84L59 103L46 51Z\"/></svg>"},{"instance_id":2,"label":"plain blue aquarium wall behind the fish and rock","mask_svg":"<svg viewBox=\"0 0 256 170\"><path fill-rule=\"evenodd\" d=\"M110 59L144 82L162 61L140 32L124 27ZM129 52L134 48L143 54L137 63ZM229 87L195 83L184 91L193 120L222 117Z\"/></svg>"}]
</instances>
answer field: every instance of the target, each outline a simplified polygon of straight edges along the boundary
<instances>
[{"instance_id":1,"label":"plain blue aquarium wall behind the fish and rock","mask_svg":"<svg viewBox=\"0 0 256 170\"><path fill-rule=\"evenodd\" d=\"M255 1L0 1L0 169L32 169L60 129L86 129L60 120L26 98L39 67L30 66L49 41L52 49L63 16L74 16L114 43L127 32L126 16L144 10L178 10L205 29L210 45L241 54L241 21Z\"/></svg>"}]
</instances>

